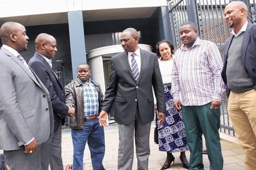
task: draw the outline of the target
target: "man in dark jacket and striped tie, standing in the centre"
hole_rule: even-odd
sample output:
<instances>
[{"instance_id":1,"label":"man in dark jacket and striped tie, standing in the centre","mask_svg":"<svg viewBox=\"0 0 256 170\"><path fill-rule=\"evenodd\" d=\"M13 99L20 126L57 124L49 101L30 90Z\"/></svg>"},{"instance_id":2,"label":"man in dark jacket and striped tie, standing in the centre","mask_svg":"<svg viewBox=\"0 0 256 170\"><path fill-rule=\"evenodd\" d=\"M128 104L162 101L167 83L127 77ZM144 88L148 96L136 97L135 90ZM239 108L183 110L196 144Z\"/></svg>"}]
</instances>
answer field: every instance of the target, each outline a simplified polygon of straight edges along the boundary
<instances>
[{"instance_id":1,"label":"man in dark jacket and striped tie, standing in the centre","mask_svg":"<svg viewBox=\"0 0 256 170\"><path fill-rule=\"evenodd\" d=\"M125 51L111 59L110 80L99 123L107 125L107 115L115 103L115 121L119 129L118 169L131 170L135 136L137 168L147 170L149 133L154 119L152 86L162 125L166 111L163 81L157 55L138 47L139 36L134 28L127 28L122 32L121 42Z\"/></svg>"}]
</instances>

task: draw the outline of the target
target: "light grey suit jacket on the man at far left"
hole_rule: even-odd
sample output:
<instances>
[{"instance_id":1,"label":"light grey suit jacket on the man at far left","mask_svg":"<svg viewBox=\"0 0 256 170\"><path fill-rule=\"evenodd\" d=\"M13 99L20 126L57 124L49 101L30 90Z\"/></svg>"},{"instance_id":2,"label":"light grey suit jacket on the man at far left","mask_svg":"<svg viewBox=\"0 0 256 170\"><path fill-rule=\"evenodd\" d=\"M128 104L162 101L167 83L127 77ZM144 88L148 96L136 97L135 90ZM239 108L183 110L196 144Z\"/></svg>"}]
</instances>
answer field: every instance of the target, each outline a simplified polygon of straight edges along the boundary
<instances>
[{"instance_id":1,"label":"light grey suit jacket on the man at far left","mask_svg":"<svg viewBox=\"0 0 256 170\"><path fill-rule=\"evenodd\" d=\"M17 57L0 49L0 149L19 150L33 137L44 143L53 133L47 89Z\"/></svg>"}]
</instances>

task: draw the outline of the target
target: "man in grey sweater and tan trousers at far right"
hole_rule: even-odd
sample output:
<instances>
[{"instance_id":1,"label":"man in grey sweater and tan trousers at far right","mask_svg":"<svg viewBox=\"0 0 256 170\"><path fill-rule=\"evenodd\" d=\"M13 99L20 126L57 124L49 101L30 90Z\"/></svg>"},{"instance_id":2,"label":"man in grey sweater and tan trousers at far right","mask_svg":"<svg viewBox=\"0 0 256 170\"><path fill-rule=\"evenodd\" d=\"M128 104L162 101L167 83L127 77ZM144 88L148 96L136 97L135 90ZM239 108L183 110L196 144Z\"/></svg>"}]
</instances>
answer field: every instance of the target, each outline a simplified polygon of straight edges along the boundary
<instances>
[{"instance_id":1,"label":"man in grey sweater and tan trousers at far right","mask_svg":"<svg viewBox=\"0 0 256 170\"><path fill-rule=\"evenodd\" d=\"M224 44L221 76L230 89L228 113L245 152L244 167L256 170L256 25L247 21L247 6L241 1L224 10L233 28Z\"/></svg>"}]
</instances>

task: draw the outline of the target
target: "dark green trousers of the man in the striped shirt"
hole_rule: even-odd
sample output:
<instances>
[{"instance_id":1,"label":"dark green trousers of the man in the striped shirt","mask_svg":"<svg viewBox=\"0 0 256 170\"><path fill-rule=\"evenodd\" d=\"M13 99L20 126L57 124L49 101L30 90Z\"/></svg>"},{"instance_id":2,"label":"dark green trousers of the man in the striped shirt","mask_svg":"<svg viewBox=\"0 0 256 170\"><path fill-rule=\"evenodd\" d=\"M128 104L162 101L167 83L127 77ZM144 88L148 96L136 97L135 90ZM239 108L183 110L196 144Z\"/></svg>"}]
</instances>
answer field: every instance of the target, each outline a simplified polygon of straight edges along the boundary
<instances>
[{"instance_id":1,"label":"dark green trousers of the man in the striped shirt","mask_svg":"<svg viewBox=\"0 0 256 170\"><path fill-rule=\"evenodd\" d=\"M223 157L219 136L220 108L211 109L211 103L201 106L182 106L186 140L190 150L190 169L204 170L202 134L210 162L210 170L223 169Z\"/></svg>"}]
</instances>

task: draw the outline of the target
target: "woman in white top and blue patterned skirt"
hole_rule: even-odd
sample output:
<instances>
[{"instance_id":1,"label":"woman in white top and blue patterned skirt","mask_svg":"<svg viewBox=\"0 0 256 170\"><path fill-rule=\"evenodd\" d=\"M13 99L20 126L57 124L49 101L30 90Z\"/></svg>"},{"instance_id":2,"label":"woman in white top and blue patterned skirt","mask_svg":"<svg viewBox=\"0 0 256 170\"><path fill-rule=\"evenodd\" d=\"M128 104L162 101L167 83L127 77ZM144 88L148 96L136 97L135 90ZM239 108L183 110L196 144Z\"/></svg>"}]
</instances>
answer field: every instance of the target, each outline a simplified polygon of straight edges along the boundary
<instances>
[{"instance_id":1,"label":"woman in white top and blue patterned skirt","mask_svg":"<svg viewBox=\"0 0 256 170\"><path fill-rule=\"evenodd\" d=\"M171 94L172 68L174 46L169 41L160 41L156 45L156 53L159 57L159 67L163 79L163 86L166 99L166 117L162 126L158 125L158 145L160 151L166 151L167 157L161 170L170 167L175 157L172 152L180 152L180 160L183 167L189 169L185 151L189 150L186 142L186 132L182 121L182 112L177 111L173 105Z\"/></svg>"}]
</instances>

